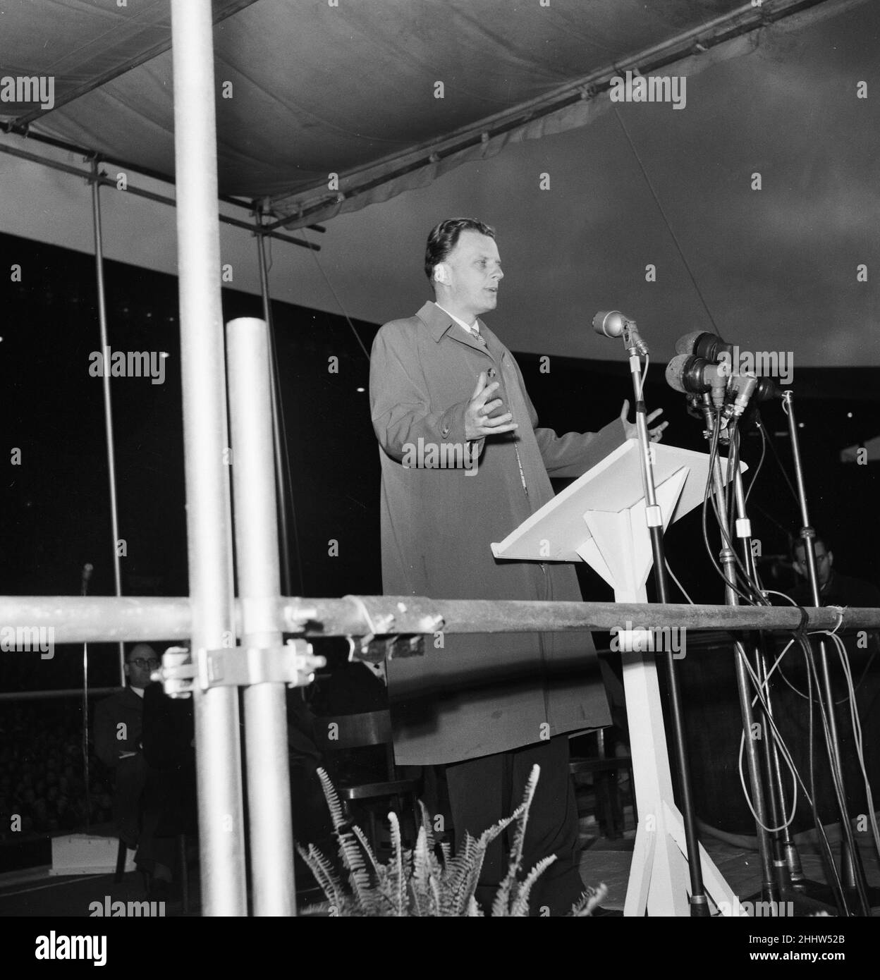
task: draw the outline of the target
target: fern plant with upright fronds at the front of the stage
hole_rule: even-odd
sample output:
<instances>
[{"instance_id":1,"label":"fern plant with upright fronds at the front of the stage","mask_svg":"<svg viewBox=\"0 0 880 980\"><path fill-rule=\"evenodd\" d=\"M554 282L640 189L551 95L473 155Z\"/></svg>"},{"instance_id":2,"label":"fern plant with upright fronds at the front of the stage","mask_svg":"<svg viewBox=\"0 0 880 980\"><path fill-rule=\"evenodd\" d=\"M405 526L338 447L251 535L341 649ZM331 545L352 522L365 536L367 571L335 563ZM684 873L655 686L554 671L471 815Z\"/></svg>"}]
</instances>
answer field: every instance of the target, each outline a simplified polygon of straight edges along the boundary
<instances>
[{"instance_id":1,"label":"fern plant with upright fronds at the front of the stage","mask_svg":"<svg viewBox=\"0 0 880 980\"><path fill-rule=\"evenodd\" d=\"M479 839L465 834L464 842L455 856L449 844L444 842L439 846L442 858L438 858L430 815L420 801L421 826L413 849L404 849L400 821L396 813L390 812L391 858L387 863L382 863L369 846L361 828L350 825L345 819L329 776L323 769L318 769L339 845L339 858L347 873L348 887L340 880L332 862L314 844L310 844L308 850L297 845L300 856L309 865L326 898L325 903L312 910L342 916L482 917L484 913L474 898L474 891L486 849L499 834L515 823L508 872L499 886L490 914L492 917L528 915L529 895L535 882L556 860L556 855L543 858L520 879L525 826L539 775L540 767L533 766L522 803L509 817L484 831ZM569 914L592 914L606 892L605 885L585 892Z\"/></svg>"}]
</instances>

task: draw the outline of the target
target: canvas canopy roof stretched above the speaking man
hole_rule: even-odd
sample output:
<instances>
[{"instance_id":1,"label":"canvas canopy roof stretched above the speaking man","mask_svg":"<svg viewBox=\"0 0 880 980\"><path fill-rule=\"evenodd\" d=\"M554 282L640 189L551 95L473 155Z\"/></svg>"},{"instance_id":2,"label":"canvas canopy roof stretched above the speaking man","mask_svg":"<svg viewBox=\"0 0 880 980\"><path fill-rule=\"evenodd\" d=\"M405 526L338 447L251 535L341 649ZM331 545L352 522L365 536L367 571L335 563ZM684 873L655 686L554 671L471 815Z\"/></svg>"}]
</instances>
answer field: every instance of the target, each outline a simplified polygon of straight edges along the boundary
<instances>
[{"instance_id":1,"label":"canvas canopy roof stretched above the speaking man","mask_svg":"<svg viewBox=\"0 0 880 980\"><path fill-rule=\"evenodd\" d=\"M861 2L215 0L220 191L326 219L589 123L626 70L694 73ZM170 17L6 0L0 119L172 178ZM52 79L51 107L14 101L25 76Z\"/></svg>"}]
</instances>

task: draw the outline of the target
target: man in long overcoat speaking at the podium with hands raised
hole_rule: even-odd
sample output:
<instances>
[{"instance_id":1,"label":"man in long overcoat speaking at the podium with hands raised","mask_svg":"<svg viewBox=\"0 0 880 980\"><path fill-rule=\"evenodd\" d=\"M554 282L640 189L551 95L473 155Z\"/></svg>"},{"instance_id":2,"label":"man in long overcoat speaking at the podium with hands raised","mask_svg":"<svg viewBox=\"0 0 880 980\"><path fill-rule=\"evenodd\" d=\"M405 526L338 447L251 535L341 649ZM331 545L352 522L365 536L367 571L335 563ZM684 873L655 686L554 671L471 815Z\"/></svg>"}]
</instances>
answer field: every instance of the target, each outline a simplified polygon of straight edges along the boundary
<instances>
[{"instance_id":1,"label":"man in long overcoat speaking at the podium with hands raised","mask_svg":"<svg viewBox=\"0 0 880 980\"><path fill-rule=\"evenodd\" d=\"M579 476L635 435L628 405L601 434L538 427L513 355L478 319L495 309L504 275L487 225L438 224L425 272L435 302L382 326L370 358L383 591L579 602L570 565L496 561L490 546L551 500L550 476ZM440 633L424 657L390 662L388 684L395 758L446 765L457 840L512 812L540 765L523 871L557 856L531 907L564 914L583 891L568 736L611 722L590 633ZM507 870L502 843L486 856L483 902Z\"/></svg>"}]
</instances>

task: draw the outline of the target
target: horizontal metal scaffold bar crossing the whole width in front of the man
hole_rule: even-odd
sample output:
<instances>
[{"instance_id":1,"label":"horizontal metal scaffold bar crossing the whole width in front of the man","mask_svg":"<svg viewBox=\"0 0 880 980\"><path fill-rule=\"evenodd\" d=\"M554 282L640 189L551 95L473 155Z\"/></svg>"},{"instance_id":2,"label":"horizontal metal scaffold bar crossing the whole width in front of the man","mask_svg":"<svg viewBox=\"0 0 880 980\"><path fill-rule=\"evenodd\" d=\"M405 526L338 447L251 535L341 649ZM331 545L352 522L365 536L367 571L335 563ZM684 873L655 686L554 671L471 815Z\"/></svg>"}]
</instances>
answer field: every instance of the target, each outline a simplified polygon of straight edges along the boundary
<instances>
[{"instance_id":1,"label":"horizontal metal scaffold bar crossing the whole width in front of the man","mask_svg":"<svg viewBox=\"0 0 880 980\"><path fill-rule=\"evenodd\" d=\"M253 600L252 600L253 601ZM444 633L523 633L577 629L794 630L795 607L690 606L640 603L562 603L422 599L414 596L345 596L342 599L277 598L278 629L310 639L333 636ZM240 621L236 602L236 630ZM807 608L807 629L877 629L880 609ZM57 644L118 640L180 641L191 632L187 597L4 596L3 630L52 628Z\"/></svg>"}]
</instances>

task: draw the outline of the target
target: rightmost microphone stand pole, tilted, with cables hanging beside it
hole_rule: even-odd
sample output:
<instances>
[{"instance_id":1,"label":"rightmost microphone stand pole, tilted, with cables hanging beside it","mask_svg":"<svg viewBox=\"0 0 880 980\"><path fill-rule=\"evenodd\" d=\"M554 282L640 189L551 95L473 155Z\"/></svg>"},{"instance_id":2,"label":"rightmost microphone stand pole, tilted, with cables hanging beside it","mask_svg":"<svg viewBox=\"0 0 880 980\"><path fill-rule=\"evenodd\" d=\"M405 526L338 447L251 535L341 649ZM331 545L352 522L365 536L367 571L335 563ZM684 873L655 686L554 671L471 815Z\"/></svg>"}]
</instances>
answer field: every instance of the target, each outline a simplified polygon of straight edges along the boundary
<instances>
[{"instance_id":1,"label":"rightmost microphone stand pole, tilted, with cables hanging beside it","mask_svg":"<svg viewBox=\"0 0 880 980\"><path fill-rule=\"evenodd\" d=\"M816 555L813 547L815 529L809 522L809 510L807 508L807 489L804 481L804 466L801 460L801 440L798 435L798 423L795 418L794 398L791 389L783 392L783 404L785 414L788 417L789 436L792 444L792 462L795 467L795 481L798 489L798 505L801 509L801 540L804 542L804 550L807 558L807 578L809 579L809 589L812 596L813 606L821 606L819 595L818 576L816 574ZM870 915L871 910L868 904L867 881L864 876L864 866L861 861L861 854L856 848L856 841L853 837L853 827L850 824L850 813L847 806L846 785L844 782L844 772L841 766L840 740L837 734L837 718L835 716L834 693L831 687L831 674L828 670L828 653L825 649L825 641L819 639L818 642L818 665L820 671L821 688L816 692L816 697L821 699L824 696L828 715L828 761L831 767L831 781L834 785L838 809L841 817L841 862L842 870L848 876L847 882L850 889L856 893L858 907L862 915Z\"/></svg>"}]
</instances>

